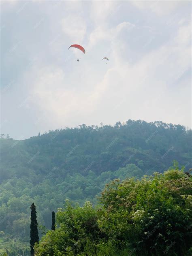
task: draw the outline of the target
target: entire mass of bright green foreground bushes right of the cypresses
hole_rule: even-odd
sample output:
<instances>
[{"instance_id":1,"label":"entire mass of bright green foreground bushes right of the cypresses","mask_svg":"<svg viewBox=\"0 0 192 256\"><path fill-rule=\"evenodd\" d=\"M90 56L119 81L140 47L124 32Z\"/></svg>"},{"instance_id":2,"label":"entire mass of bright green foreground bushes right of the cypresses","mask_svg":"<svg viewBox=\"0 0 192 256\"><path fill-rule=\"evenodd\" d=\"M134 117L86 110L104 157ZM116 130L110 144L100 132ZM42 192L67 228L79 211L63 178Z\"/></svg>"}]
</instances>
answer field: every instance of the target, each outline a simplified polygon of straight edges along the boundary
<instances>
[{"instance_id":1,"label":"entire mass of bright green foreground bushes right of the cypresses","mask_svg":"<svg viewBox=\"0 0 192 256\"><path fill-rule=\"evenodd\" d=\"M67 202L59 209L58 228L36 245L35 255L190 255L191 188L192 178L177 169L115 179L100 207Z\"/></svg>"}]
</instances>

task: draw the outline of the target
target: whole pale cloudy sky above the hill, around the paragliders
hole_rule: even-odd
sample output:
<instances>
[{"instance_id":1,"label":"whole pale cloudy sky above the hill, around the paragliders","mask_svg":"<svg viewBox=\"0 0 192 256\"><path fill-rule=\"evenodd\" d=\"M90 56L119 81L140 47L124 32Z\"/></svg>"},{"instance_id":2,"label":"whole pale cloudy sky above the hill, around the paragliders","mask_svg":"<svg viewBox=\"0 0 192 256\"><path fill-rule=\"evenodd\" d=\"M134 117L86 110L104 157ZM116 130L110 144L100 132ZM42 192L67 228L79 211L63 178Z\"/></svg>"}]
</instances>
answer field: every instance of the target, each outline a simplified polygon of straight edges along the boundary
<instances>
[{"instance_id":1,"label":"whole pale cloudy sky above the hill, around the paragliders","mask_svg":"<svg viewBox=\"0 0 192 256\"><path fill-rule=\"evenodd\" d=\"M1 133L191 128L191 17L190 1L1 1Z\"/></svg>"}]
</instances>

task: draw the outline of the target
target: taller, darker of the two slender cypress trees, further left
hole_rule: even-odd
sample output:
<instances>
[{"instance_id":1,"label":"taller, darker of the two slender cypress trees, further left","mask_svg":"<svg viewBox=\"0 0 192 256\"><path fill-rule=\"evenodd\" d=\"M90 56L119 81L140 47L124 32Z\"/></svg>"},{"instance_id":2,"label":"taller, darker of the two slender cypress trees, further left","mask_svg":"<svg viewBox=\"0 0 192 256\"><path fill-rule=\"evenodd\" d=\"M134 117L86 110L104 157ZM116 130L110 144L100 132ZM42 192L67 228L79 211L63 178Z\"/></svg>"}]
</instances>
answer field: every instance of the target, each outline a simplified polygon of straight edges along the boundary
<instances>
[{"instance_id":1,"label":"taller, darker of the two slender cypress trees, further left","mask_svg":"<svg viewBox=\"0 0 192 256\"><path fill-rule=\"evenodd\" d=\"M30 247L31 247L31 256L34 256L34 244L38 243L38 224L37 224L37 216L36 216L36 206L34 203L31 205L31 225L30 225Z\"/></svg>"}]
</instances>

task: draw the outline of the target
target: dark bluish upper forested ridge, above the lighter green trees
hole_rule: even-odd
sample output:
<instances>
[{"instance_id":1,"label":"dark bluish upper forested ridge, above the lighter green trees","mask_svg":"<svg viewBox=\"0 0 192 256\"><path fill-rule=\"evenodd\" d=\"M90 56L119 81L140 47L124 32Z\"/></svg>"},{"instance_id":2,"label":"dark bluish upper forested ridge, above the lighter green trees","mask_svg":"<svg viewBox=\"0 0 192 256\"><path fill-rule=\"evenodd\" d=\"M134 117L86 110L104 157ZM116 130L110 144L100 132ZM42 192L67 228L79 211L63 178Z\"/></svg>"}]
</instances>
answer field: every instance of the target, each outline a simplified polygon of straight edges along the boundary
<instances>
[{"instance_id":1,"label":"dark bluish upper forested ridge, above the lighter green trees","mask_svg":"<svg viewBox=\"0 0 192 256\"><path fill-rule=\"evenodd\" d=\"M24 141L1 140L1 181L21 177L39 183L45 177L100 175L126 164L140 176L166 170L174 159L189 166L191 130L162 122L133 121L115 126L85 126L49 131ZM25 178L26 177L26 178Z\"/></svg>"}]
</instances>

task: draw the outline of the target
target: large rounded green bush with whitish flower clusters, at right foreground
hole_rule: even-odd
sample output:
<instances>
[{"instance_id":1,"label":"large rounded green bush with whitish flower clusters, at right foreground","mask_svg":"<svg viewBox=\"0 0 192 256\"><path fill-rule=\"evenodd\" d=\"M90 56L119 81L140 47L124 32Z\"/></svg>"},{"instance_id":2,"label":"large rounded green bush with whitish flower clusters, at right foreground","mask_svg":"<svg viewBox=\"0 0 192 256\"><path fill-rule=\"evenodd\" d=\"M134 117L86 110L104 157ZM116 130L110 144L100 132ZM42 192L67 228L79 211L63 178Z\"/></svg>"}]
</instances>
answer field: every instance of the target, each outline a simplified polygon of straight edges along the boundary
<instances>
[{"instance_id":1,"label":"large rounded green bush with whitish flower clusters, at right foreground","mask_svg":"<svg viewBox=\"0 0 192 256\"><path fill-rule=\"evenodd\" d=\"M114 180L102 192L100 228L117 247L137 255L188 255L192 239L192 178L183 171Z\"/></svg>"}]
</instances>

